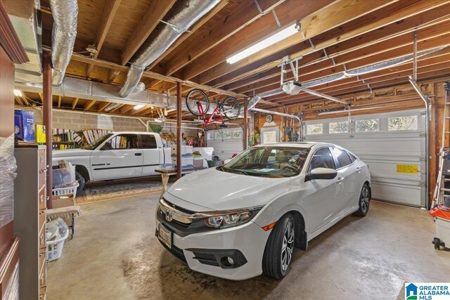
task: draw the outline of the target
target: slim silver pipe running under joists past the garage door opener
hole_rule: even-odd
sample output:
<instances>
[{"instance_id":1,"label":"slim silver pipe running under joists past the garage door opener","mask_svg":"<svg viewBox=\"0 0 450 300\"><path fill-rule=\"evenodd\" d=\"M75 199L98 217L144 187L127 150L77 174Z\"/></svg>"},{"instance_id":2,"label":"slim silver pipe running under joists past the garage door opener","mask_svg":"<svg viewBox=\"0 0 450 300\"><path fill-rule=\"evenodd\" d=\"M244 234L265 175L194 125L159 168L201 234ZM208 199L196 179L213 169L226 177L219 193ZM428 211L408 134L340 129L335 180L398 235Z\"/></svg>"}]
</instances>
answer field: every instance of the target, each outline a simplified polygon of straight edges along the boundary
<instances>
[{"instance_id":1,"label":"slim silver pipe running under joists past the garage door opener","mask_svg":"<svg viewBox=\"0 0 450 300\"><path fill-rule=\"evenodd\" d=\"M450 45L439 46L436 48L432 48L430 50L420 51L417 53L416 58L420 58L421 56L426 56L428 54L435 53L435 52L442 50L448 46L450 46ZM312 86L319 86L321 84L328 84L330 82L338 81L340 79L344 79L344 78L348 78L348 77L356 77L359 75L364 75L364 74L368 74L368 73L375 72L375 71L385 70L389 67L395 67L397 65L402 65L404 63L408 63L408 62L412 61L413 59L414 59L414 55L409 54L407 56L401 56L399 58L394 58L392 60L386 60L382 63L375 63L373 65L359 67L354 70L344 71L344 72L340 72L338 74L333 74L328 77L323 77L323 78L319 78L319 79L312 80L312 81L302 82L302 89L308 89ZM255 98L255 97L264 98L264 97L269 97L269 96L275 96L280 93L284 93L283 89L274 89L272 91L266 91L264 93L259 93L256 96L254 96L253 98Z\"/></svg>"}]
</instances>

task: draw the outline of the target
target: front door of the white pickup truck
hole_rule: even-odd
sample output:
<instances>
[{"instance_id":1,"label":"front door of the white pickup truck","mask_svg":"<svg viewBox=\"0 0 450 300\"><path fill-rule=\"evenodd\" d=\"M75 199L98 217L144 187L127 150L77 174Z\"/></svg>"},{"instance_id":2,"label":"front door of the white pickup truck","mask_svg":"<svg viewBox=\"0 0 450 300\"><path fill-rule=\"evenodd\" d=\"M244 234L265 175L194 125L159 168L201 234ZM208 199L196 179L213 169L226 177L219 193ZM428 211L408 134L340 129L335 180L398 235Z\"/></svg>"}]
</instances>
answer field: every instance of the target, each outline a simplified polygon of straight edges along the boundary
<instances>
[{"instance_id":1,"label":"front door of the white pickup truck","mask_svg":"<svg viewBox=\"0 0 450 300\"><path fill-rule=\"evenodd\" d=\"M139 136L134 133L117 134L91 154L94 180L141 176L142 163Z\"/></svg>"}]
</instances>

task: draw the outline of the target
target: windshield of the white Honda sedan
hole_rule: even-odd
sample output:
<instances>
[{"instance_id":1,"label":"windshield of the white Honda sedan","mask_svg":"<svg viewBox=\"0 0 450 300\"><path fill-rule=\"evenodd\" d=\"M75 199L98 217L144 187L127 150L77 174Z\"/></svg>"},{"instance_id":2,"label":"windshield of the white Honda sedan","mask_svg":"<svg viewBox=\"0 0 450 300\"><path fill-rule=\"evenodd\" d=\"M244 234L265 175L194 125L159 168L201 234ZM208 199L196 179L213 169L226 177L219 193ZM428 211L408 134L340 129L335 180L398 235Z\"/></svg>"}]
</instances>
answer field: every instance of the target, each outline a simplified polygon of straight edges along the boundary
<instances>
[{"instance_id":1,"label":"windshield of the white Honda sedan","mask_svg":"<svg viewBox=\"0 0 450 300\"><path fill-rule=\"evenodd\" d=\"M248 176L290 177L300 174L308 153L309 148L253 147L217 169Z\"/></svg>"}]
</instances>

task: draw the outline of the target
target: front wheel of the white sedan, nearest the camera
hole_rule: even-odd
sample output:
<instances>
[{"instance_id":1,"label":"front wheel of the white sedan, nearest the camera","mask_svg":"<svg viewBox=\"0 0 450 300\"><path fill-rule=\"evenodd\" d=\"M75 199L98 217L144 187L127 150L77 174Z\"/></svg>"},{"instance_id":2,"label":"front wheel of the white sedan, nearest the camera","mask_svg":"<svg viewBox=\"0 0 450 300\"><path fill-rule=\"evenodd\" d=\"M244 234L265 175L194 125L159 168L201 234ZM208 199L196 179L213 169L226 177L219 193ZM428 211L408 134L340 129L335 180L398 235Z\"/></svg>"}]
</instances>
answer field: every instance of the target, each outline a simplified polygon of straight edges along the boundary
<instances>
[{"instance_id":1,"label":"front wheel of the white sedan, nearest the camera","mask_svg":"<svg viewBox=\"0 0 450 300\"><path fill-rule=\"evenodd\" d=\"M285 214L276 222L267 240L262 258L262 272L278 280L284 278L288 274L294 248L295 219L292 214Z\"/></svg>"}]
</instances>

